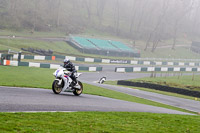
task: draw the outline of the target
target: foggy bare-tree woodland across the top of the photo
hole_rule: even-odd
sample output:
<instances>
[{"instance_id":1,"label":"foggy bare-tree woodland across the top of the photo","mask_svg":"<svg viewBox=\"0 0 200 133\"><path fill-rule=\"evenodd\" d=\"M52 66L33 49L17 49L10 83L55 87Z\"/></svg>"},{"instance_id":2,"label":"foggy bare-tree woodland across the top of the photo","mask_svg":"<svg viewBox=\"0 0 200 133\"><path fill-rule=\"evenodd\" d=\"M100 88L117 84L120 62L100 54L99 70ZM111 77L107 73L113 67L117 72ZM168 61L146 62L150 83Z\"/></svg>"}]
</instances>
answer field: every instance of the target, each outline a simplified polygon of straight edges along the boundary
<instances>
[{"instance_id":1,"label":"foggy bare-tree woodland across the top of the photo","mask_svg":"<svg viewBox=\"0 0 200 133\"><path fill-rule=\"evenodd\" d=\"M152 52L159 42L191 41L200 34L199 0L0 0L0 29L61 31L89 30L143 40Z\"/></svg>"}]
</instances>

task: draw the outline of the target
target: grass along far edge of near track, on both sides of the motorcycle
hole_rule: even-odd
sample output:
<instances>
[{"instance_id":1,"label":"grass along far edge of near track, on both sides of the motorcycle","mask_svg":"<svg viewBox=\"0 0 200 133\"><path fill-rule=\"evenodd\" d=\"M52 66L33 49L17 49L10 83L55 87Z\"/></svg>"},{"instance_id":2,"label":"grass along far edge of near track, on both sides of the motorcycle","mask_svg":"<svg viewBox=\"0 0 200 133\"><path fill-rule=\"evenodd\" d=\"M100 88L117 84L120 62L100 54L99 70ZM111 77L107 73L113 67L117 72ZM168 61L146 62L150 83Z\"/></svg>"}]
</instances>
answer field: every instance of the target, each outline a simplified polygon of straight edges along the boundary
<instances>
[{"instance_id":1,"label":"grass along far edge of near track, on both sides of the motorcycle","mask_svg":"<svg viewBox=\"0 0 200 133\"><path fill-rule=\"evenodd\" d=\"M54 71L55 70L46 68L0 66L0 85L51 89L51 85L54 80L54 76L52 75L52 73ZM184 109L134 97L131 95L109 89L104 89L101 87L96 87L89 84L84 84L84 93L188 112Z\"/></svg>"}]
</instances>

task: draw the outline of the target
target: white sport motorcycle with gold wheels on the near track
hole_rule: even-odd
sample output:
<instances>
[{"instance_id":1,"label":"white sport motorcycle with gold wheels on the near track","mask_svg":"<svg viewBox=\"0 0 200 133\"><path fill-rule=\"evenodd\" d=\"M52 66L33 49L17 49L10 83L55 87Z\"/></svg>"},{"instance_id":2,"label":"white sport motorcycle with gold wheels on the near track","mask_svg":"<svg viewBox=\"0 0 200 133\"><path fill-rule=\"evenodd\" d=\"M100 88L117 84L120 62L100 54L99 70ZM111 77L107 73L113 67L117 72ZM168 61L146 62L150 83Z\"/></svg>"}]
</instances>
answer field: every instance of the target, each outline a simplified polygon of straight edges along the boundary
<instances>
[{"instance_id":1,"label":"white sport motorcycle with gold wheels on the near track","mask_svg":"<svg viewBox=\"0 0 200 133\"><path fill-rule=\"evenodd\" d=\"M55 94L62 92L73 92L74 95L79 96L83 92L83 85L77 80L75 86L72 85L72 79L70 75L72 72L67 71L65 68L58 68L53 75L56 77L52 84L52 90ZM74 73L75 77L78 78L82 73Z\"/></svg>"}]
</instances>

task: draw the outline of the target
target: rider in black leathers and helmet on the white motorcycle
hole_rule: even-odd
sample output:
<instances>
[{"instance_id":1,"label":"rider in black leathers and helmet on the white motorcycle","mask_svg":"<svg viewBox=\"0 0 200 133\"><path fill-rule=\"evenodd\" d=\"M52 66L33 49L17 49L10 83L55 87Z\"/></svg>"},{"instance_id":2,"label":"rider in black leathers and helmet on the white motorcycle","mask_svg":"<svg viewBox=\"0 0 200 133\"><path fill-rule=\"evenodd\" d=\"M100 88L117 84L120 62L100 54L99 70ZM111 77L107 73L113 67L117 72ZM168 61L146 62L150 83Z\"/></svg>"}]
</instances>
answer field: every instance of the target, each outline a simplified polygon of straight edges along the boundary
<instances>
[{"instance_id":1,"label":"rider in black leathers and helmet on the white motorcycle","mask_svg":"<svg viewBox=\"0 0 200 133\"><path fill-rule=\"evenodd\" d=\"M74 75L76 71L75 66L72 64L72 62L69 59L64 59L64 68L67 69L67 71L72 72L72 74L70 75L70 78L73 80L73 86L75 86L77 84L77 80L76 77Z\"/></svg>"}]
</instances>

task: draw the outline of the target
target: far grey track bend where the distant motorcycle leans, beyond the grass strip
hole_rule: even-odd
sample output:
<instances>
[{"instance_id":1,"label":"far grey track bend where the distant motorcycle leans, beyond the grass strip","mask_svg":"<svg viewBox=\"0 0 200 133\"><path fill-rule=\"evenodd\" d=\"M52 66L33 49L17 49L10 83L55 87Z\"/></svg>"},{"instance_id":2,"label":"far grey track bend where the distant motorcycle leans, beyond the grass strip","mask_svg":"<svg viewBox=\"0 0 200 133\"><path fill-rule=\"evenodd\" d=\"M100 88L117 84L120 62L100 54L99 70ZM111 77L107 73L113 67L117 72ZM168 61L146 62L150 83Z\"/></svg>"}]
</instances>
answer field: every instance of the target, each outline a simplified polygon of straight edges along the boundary
<instances>
[{"instance_id":1,"label":"far grey track bend where the distant motorcycle leans, beyond the grass strip","mask_svg":"<svg viewBox=\"0 0 200 133\"><path fill-rule=\"evenodd\" d=\"M126 93L132 96L148 99L155 102L164 103L167 105L175 106L178 108L190 110L193 112L200 112L200 102L195 100L189 100L184 98L178 98L174 96L167 96L153 92L142 91L138 89L131 89L127 87L119 87L113 85L106 85L106 84L98 84L98 80L101 77L106 77L107 80L120 80L120 79L135 79L135 78L142 78L148 77L150 74L146 73L112 73L112 72L102 72L102 73L85 73L81 75L80 79L88 84L92 84L95 86L103 87L106 89L111 89L114 91ZM84 79L87 79L84 81Z\"/></svg>"}]
</instances>

